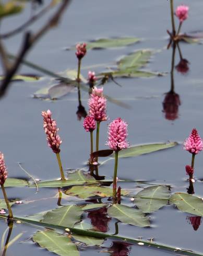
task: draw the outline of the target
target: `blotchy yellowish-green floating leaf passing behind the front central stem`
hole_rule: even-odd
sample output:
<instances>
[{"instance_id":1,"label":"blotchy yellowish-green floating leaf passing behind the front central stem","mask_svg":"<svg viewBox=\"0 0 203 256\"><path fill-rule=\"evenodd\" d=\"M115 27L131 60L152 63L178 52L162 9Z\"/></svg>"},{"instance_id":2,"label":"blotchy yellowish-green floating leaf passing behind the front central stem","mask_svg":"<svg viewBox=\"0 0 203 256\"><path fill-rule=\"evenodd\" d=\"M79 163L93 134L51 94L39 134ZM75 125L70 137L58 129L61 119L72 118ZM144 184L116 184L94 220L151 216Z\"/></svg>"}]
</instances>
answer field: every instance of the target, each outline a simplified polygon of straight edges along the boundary
<instances>
[{"instance_id":1,"label":"blotchy yellowish-green floating leaf passing behind the front central stem","mask_svg":"<svg viewBox=\"0 0 203 256\"><path fill-rule=\"evenodd\" d=\"M127 194L127 192L124 190L121 192L122 195ZM109 197L112 196L112 189L106 187L74 186L71 189L66 190L65 194L77 196L82 199L86 199L92 196Z\"/></svg>"}]
</instances>

